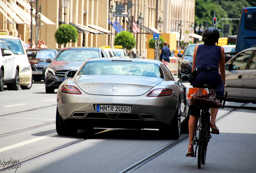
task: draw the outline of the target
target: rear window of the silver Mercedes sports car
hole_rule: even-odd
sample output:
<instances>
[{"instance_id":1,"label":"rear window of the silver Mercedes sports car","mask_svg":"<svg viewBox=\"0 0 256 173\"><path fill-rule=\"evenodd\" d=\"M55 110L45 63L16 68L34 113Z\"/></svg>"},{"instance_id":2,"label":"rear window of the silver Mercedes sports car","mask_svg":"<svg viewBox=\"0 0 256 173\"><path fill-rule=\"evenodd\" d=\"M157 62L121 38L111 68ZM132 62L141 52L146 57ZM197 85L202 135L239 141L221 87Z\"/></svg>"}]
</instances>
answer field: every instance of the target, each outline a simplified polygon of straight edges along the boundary
<instances>
[{"instance_id":1,"label":"rear window of the silver Mercedes sports car","mask_svg":"<svg viewBox=\"0 0 256 173\"><path fill-rule=\"evenodd\" d=\"M78 72L78 75L109 74L109 75L134 75L161 78L160 67L149 62L112 60L89 61Z\"/></svg>"}]
</instances>

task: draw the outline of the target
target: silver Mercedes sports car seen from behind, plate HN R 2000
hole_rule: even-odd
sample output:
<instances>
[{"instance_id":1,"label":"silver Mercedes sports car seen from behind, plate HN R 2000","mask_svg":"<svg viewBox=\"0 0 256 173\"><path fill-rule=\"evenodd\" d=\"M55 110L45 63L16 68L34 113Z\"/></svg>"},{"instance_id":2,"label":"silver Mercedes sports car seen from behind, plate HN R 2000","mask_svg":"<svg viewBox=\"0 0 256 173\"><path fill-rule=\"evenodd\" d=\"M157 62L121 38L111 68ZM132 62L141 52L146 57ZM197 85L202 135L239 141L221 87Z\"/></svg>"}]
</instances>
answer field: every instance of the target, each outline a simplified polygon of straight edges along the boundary
<instances>
[{"instance_id":1,"label":"silver Mercedes sports car seen from behind, plate HN R 2000","mask_svg":"<svg viewBox=\"0 0 256 173\"><path fill-rule=\"evenodd\" d=\"M59 135L94 127L159 129L178 139L181 126L188 128L185 86L160 61L92 58L65 77L57 93Z\"/></svg>"}]
</instances>

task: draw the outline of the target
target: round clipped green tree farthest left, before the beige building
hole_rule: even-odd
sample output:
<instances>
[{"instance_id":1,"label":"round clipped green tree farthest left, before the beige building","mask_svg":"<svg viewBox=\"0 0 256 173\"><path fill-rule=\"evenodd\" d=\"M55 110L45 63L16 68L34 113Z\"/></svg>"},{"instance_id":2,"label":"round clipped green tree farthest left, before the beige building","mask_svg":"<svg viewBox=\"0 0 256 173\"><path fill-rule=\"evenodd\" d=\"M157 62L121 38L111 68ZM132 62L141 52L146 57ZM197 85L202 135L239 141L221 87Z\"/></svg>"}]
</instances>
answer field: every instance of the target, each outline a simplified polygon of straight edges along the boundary
<instances>
[{"instance_id":1,"label":"round clipped green tree farthest left, before the beige building","mask_svg":"<svg viewBox=\"0 0 256 173\"><path fill-rule=\"evenodd\" d=\"M78 32L73 25L62 24L56 30L54 37L58 44L64 44L64 47L66 47L66 44L69 42L77 42Z\"/></svg>"}]
</instances>

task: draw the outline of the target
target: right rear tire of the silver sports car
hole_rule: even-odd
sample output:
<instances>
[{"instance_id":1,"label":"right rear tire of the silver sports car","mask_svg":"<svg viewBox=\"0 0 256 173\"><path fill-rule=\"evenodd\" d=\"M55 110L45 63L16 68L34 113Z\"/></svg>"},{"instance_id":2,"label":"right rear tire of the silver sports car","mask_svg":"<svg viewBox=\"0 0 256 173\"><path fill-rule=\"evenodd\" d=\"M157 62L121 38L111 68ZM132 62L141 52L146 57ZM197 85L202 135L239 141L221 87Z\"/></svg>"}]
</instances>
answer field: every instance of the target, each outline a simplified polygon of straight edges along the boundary
<instances>
[{"instance_id":1,"label":"right rear tire of the silver sports car","mask_svg":"<svg viewBox=\"0 0 256 173\"><path fill-rule=\"evenodd\" d=\"M178 102L177 109L173 120L169 125L163 126L159 131L164 133L165 136L169 139L178 139L180 137L180 101Z\"/></svg>"}]
</instances>

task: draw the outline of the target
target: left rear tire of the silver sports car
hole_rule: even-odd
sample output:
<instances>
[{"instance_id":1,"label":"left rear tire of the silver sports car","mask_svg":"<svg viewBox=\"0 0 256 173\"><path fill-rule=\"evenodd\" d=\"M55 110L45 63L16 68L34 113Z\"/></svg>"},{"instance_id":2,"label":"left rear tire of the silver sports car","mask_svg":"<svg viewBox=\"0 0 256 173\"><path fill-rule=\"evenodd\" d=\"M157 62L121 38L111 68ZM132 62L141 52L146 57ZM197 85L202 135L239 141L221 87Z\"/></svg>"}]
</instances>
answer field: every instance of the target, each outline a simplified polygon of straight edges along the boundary
<instances>
[{"instance_id":1,"label":"left rear tire of the silver sports car","mask_svg":"<svg viewBox=\"0 0 256 173\"><path fill-rule=\"evenodd\" d=\"M56 131L58 135L74 136L76 135L78 128L70 121L63 121L60 117L60 113L56 111Z\"/></svg>"}]
</instances>

